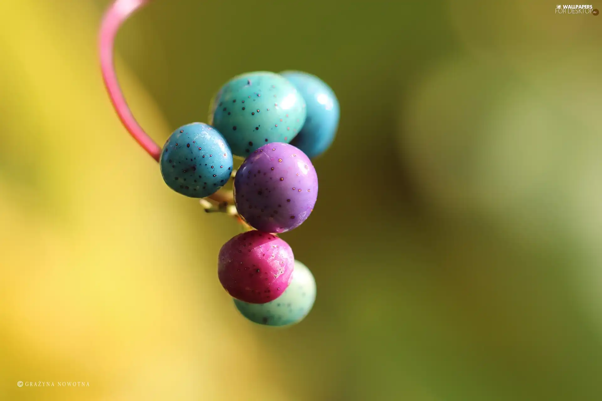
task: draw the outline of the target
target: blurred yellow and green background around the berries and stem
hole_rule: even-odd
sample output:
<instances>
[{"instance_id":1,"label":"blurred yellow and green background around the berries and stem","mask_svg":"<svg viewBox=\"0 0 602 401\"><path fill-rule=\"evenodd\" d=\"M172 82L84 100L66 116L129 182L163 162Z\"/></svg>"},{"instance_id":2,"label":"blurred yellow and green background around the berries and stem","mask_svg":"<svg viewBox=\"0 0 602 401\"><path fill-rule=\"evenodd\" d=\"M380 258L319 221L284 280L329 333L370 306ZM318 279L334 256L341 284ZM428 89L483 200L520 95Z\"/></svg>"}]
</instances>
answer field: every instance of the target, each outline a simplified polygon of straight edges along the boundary
<instances>
[{"instance_id":1,"label":"blurred yellow and green background around the berries and stem","mask_svg":"<svg viewBox=\"0 0 602 401\"><path fill-rule=\"evenodd\" d=\"M111 108L108 4L0 3L0 399L601 399L602 17L521 0L135 14L117 72L160 144L242 72L304 70L340 99L318 203L283 235L318 298L268 329L217 280L236 222L170 191Z\"/></svg>"}]
</instances>

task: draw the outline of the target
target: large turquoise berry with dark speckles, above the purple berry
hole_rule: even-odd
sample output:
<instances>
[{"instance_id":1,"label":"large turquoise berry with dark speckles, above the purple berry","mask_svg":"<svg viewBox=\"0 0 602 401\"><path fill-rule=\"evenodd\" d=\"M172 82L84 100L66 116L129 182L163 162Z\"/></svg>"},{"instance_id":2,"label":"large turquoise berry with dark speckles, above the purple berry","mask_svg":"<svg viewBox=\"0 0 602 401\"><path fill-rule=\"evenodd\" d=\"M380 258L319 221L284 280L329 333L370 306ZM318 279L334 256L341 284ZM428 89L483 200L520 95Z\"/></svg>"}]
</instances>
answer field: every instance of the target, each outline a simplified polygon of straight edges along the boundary
<instances>
[{"instance_id":1,"label":"large turquoise berry with dark speckles, above the purple berry","mask_svg":"<svg viewBox=\"0 0 602 401\"><path fill-rule=\"evenodd\" d=\"M281 75L250 72L232 78L211 100L209 124L232 153L246 158L261 145L288 143L305 123L305 100Z\"/></svg>"}]
</instances>

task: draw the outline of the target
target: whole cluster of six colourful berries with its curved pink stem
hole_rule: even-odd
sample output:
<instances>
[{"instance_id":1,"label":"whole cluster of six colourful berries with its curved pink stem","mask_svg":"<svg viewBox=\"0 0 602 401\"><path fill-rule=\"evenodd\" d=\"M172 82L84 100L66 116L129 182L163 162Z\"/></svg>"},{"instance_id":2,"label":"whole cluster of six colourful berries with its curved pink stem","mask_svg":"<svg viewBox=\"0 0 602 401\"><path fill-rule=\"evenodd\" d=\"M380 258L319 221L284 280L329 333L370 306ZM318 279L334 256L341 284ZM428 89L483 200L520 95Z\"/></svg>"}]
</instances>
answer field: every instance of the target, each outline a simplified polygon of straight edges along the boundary
<instances>
[{"instance_id":1,"label":"whole cluster of six colourful berries with its curved pink stem","mask_svg":"<svg viewBox=\"0 0 602 401\"><path fill-rule=\"evenodd\" d=\"M284 326L311 310L315 280L278 234L314 210L318 177L311 158L334 140L339 105L333 91L303 72L252 72L232 78L211 101L209 124L176 129L160 148L138 126L113 66L119 26L146 0L117 0L101 26L101 67L113 106L129 133L160 164L165 183L200 198L206 211L237 216L246 231L220 249L217 275L252 322ZM242 159L238 170L234 159ZM234 177L231 192L222 187ZM254 229L253 229L254 228Z\"/></svg>"}]
</instances>

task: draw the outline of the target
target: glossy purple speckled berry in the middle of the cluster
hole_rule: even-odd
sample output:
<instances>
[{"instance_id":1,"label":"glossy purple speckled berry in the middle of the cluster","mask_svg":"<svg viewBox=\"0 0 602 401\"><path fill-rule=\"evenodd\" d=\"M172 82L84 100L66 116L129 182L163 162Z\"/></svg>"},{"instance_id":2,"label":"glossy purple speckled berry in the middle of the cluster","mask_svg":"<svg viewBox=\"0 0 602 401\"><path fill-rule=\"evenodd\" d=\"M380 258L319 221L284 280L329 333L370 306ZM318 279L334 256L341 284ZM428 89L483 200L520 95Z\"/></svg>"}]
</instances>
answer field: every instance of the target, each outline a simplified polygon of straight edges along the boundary
<instances>
[{"instance_id":1,"label":"glossy purple speckled berry in the middle of the cluster","mask_svg":"<svg viewBox=\"0 0 602 401\"><path fill-rule=\"evenodd\" d=\"M318 176L308 156L290 144L263 145L240 166L234 179L238 213L252 227L284 233L314 210Z\"/></svg>"}]
</instances>

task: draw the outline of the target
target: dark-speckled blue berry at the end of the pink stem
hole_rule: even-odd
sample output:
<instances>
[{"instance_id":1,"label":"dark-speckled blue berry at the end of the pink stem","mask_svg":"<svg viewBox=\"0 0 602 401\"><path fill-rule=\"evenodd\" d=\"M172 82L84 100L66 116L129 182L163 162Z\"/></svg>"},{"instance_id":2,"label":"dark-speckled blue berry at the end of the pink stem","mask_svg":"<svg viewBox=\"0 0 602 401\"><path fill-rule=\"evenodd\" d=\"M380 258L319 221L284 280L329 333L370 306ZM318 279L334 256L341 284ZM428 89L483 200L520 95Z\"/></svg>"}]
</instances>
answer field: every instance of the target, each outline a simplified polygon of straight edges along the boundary
<instances>
[{"instance_id":1,"label":"dark-speckled blue berry at the end of the pink stem","mask_svg":"<svg viewBox=\"0 0 602 401\"><path fill-rule=\"evenodd\" d=\"M169 188L187 197L204 198L228 182L232 152L214 127L191 123L167 139L159 164Z\"/></svg>"}]
</instances>

